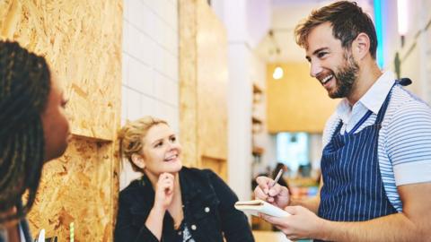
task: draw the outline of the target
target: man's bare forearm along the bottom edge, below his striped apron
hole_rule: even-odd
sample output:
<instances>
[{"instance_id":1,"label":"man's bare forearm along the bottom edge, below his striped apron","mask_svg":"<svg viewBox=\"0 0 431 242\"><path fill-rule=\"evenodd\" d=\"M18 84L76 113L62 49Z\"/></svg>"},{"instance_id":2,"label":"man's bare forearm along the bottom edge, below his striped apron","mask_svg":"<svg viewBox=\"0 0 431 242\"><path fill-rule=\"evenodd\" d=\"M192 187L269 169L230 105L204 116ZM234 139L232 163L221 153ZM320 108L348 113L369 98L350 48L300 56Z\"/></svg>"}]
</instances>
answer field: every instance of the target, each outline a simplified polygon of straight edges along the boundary
<instances>
[{"instance_id":1,"label":"man's bare forearm along the bottom edge, below his striped apron","mask_svg":"<svg viewBox=\"0 0 431 242\"><path fill-rule=\"evenodd\" d=\"M361 222L324 220L319 238L330 241L429 241L429 235L403 213ZM428 240L427 240L428 239Z\"/></svg>"}]
</instances>

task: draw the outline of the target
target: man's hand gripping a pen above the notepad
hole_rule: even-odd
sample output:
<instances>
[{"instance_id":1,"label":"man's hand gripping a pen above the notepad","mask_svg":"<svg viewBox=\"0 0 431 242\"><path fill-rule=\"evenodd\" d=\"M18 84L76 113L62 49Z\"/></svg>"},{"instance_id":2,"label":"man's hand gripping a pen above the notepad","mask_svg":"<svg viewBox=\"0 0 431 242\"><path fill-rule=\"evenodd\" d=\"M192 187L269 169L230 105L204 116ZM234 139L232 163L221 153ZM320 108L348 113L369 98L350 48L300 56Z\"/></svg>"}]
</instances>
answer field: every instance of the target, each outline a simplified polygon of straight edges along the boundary
<instances>
[{"instance_id":1,"label":"man's hand gripping a pen above the notepad","mask_svg":"<svg viewBox=\"0 0 431 242\"><path fill-rule=\"evenodd\" d=\"M290 196L286 186L274 185L274 180L269 177L257 177L256 182L258 186L254 189L254 196L257 199L272 203L281 209L289 204Z\"/></svg>"}]
</instances>

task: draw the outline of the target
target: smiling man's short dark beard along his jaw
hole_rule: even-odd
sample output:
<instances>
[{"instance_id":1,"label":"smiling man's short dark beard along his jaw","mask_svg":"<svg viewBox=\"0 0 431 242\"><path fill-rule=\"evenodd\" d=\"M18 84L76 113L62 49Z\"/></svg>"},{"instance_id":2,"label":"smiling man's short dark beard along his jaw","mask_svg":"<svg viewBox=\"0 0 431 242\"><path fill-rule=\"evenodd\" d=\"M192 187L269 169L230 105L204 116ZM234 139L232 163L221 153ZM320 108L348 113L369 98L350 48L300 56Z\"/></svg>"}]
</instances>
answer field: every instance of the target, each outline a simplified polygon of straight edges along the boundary
<instances>
[{"instance_id":1,"label":"smiling man's short dark beard along his jaw","mask_svg":"<svg viewBox=\"0 0 431 242\"><path fill-rule=\"evenodd\" d=\"M337 73L334 73L336 80L335 91L328 93L331 99L348 97L356 86L359 65L357 65L355 59L348 50L345 52L344 58L346 60L346 66L341 67Z\"/></svg>"}]
</instances>

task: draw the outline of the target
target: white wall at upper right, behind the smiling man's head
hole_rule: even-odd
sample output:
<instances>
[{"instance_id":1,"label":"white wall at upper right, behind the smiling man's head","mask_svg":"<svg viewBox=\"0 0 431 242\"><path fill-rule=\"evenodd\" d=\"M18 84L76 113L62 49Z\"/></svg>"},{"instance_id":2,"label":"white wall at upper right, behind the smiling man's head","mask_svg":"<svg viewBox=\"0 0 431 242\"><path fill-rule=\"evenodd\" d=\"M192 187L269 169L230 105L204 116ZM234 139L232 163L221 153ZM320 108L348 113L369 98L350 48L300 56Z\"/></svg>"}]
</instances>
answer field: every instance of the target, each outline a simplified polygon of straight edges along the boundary
<instances>
[{"instance_id":1,"label":"white wall at upper right, behind the smiling man's head","mask_svg":"<svg viewBox=\"0 0 431 242\"><path fill-rule=\"evenodd\" d=\"M400 53L401 77L409 77L413 84L408 88L420 98L431 103L431 1L409 1L404 12L408 15L408 33L404 46L401 47L398 33L397 1L383 1L386 11L383 13L385 66L394 70L393 58Z\"/></svg>"}]
</instances>

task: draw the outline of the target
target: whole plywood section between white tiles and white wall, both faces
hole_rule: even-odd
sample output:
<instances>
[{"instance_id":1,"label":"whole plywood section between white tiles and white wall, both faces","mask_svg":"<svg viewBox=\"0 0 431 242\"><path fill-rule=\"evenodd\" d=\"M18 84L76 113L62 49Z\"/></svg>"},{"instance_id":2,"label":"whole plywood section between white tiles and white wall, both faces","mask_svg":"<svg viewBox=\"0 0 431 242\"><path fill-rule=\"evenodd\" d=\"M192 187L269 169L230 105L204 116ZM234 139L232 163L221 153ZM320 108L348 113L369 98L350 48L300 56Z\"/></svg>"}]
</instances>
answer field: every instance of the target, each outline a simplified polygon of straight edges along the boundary
<instances>
[{"instance_id":1,"label":"whole plywood section between white tiles and white wall, both faces","mask_svg":"<svg viewBox=\"0 0 431 242\"><path fill-rule=\"evenodd\" d=\"M206 1L180 0L179 6L183 163L199 168L216 166L226 179L226 33ZM219 163L203 161L206 158Z\"/></svg>"}]
</instances>

